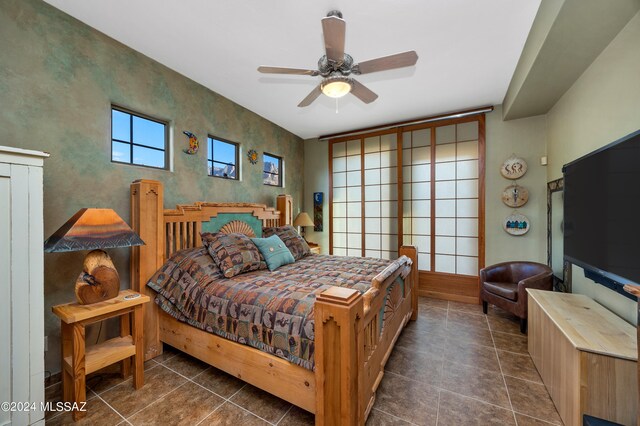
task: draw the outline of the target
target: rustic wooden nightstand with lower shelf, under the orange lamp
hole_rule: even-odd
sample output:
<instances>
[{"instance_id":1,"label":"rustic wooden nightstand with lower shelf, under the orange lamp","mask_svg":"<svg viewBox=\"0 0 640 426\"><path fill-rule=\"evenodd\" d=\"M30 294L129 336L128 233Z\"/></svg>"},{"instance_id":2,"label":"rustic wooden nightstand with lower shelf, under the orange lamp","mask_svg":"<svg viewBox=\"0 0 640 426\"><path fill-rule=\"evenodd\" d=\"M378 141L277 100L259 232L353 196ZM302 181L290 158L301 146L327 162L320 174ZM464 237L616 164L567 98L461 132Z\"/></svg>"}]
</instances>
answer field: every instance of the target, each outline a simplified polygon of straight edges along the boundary
<instances>
[{"instance_id":1,"label":"rustic wooden nightstand with lower shelf, under the orange lamp","mask_svg":"<svg viewBox=\"0 0 640 426\"><path fill-rule=\"evenodd\" d=\"M126 296L138 297L125 299ZM54 306L53 313L60 318L62 334L62 386L65 402L81 403L87 400L85 375L116 362L122 362L123 377L132 370L133 386L144 384L144 340L142 337L142 305L149 296L133 290L123 290L114 299L92 305L67 303ZM107 318L120 317L120 337L85 347L85 325ZM85 411L74 411L73 420L84 417Z\"/></svg>"}]
</instances>

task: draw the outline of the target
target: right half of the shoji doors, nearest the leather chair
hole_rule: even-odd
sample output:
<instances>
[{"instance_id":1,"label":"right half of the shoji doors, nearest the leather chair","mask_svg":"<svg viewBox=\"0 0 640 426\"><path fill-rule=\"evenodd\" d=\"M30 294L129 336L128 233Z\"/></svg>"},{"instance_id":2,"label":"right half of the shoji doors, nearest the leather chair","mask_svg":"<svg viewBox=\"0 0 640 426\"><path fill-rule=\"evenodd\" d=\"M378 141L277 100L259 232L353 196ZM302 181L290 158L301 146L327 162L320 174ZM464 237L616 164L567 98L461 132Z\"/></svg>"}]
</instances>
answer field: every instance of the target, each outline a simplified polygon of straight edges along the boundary
<instances>
[{"instance_id":1,"label":"right half of the shoji doors, nearest the leather chair","mask_svg":"<svg viewBox=\"0 0 640 426\"><path fill-rule=\"evenodd\" d=\"M403 244L420 293L478 301L484 266L484 116L403 129Z\"/></svg>"}]
</instances>

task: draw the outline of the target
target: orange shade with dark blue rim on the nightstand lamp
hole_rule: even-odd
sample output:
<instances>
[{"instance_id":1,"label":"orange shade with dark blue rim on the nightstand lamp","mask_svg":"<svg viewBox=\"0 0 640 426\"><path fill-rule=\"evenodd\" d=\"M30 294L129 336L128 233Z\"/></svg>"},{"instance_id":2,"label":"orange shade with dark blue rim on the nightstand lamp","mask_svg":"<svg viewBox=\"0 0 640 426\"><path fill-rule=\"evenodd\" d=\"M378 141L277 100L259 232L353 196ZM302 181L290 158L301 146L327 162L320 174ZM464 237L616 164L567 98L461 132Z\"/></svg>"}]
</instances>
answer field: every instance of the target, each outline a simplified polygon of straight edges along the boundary
<instances>
[{"instance_id":1,"label":"orange shade with dark blue rim on the nightstand lamp","mask_svg":"<svg viewBox=\"0 0 640 426\"><path fill-rule=\"evenodd\" d=\"M47 253L144 245L112 209L81 209L44 242Z\"/></svg>"}]
</instances>

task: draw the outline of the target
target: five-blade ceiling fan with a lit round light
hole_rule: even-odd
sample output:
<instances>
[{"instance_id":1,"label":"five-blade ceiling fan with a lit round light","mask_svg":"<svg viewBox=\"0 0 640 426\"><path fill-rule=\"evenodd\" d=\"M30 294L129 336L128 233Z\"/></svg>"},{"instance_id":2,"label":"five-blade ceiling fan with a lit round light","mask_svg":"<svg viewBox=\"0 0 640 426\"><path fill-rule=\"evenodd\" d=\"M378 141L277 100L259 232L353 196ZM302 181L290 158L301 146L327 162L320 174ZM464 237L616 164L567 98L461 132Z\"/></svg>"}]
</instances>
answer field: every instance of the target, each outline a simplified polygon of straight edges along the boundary
<instances>
[{"instance_id":1,"label":"five-blade ceiling fan with a lit round light","mask_svg":"<svg viewBox=\"0 0 640 426\"><path fill-rule=\"evenodd\" d=\"M322 82L298 104L299 107L311 105L323 93L331 98L341 98L351 92L364 103L375 101L378 95L351 78L351 74L368 74L410 67L418 61L418 54L410 50L354 64L351 55L344 52L346 25L345 20L342 19L342 13L337 10L332 10L322 18L326 55L322 55L318 60L317 70L260 66L258 71L265 74L322 76Z\"/></svg>"}]
</instances>

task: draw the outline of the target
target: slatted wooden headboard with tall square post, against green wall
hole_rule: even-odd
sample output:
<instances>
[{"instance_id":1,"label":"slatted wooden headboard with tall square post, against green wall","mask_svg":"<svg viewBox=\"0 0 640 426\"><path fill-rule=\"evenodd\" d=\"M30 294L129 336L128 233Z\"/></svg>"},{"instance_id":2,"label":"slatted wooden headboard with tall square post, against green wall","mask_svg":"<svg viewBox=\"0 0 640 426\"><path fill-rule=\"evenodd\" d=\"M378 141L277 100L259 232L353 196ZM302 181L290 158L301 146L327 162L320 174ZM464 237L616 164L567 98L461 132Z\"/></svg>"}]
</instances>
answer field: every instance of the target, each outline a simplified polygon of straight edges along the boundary
<instances>
[{"instance_id":1,"label":"slatted wooden headboard with tall square post, against green wall","mask_svg":"<svg viewBox=\"0 0 640 426\"><path fill-rule=\"evenodd\" d=\"M155 293L146 286L149 278L174 252L201 246L200 232L212 219L245 215L257 219L262 226L291 224L291 211L280 212L264 204L196 202L164 209L163 199L162 182L142 179L131 184L131 228L145 242L144 246L132 248L131 288L152 298ZM291 197L278 196L278 205L290 208ZM155 303L145 306L145 323L156 324L155 329L145 325L145 359L161 352L158 322L150 317L157 316L157 310Z\"/></svg>"}]
</instances>

